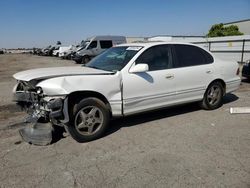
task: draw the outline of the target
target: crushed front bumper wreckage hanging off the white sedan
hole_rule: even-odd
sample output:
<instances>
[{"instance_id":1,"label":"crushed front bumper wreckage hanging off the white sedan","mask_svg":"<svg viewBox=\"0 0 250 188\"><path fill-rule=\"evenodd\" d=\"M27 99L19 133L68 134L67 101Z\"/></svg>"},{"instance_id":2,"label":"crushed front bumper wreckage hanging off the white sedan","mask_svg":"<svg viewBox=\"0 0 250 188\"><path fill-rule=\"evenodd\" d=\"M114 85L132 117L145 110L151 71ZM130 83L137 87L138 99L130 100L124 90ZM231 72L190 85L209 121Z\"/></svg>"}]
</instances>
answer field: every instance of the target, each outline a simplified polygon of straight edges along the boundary
<instances>
[{"instance_id":1,"label":"crushed front bumper wreckage hanging off the white sedan","mask_svg":"<svg viewBox=\"0 0 250 188\"><path fill-rule=\"evenodd\" d=\"M25 128L19 130L25 142L48 145L53 140L53 125L63 126L68 122L65 97L41 97L36 92L16 91L13 100L28 113Z\"/></svg>"}]
</instances>

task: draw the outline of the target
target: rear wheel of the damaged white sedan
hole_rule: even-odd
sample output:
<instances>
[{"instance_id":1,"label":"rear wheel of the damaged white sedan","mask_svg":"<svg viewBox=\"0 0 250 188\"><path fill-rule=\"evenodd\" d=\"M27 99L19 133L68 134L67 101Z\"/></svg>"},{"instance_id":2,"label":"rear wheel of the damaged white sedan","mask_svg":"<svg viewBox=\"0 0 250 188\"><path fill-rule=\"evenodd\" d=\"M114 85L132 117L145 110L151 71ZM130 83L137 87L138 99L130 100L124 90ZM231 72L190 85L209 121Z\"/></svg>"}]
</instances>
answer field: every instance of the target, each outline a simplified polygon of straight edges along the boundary
<instances>
[{"instance_id":1,"label":"rear wheel of the damaged white sedan","mask_svg":"<svg viewBox=\"0 0 250 188\"><path fill-rule=\"evenodd\" d=\"M214 110L222 106L223 86L220 82L212 82L200 102L200 106L205 110Z\"/></svg>"}]
</instances>

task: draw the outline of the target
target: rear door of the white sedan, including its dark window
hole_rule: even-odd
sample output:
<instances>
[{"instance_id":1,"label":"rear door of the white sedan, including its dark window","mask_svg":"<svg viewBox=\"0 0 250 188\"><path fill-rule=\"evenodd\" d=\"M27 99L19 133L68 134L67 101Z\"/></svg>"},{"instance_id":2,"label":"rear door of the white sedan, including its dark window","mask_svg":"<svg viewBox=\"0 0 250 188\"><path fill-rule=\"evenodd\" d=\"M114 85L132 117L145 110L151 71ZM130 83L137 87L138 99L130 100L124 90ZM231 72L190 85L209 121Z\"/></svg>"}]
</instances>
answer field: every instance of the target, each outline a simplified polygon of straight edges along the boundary
<instances>
[{"instance_id":1,"label":"rear door of the white sedan, including its dark window","mask_svg":"<svg viewBox=\"0 0 250 188\"><path fill-rule=\"evenodd\" d=\"M214 79L213 57L197 46L173 44L175 102L203 98L208 84Z\"/></svg>"}]
</instances>

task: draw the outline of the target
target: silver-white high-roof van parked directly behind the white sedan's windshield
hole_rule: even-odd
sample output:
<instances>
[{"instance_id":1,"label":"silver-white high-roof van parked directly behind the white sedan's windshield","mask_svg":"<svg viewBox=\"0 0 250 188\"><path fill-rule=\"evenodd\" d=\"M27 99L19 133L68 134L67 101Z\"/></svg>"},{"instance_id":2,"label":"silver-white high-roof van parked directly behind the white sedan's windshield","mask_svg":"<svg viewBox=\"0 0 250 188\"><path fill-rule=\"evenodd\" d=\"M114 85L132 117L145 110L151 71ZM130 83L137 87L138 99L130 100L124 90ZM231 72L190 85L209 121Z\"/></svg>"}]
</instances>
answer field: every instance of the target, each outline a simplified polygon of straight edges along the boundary
<instances>
[{"instance_id":1,"label":"silver-white high-roof van parked directly behind the white sedan's windshield","mask_svg":"<svg viewBox=\"0 0 250 188\"><path fill-rule=\"evenodd\" d=\"M72 59L76 63L86 64L91 58L99 55L104 50L122 43L126 43L126 37L124 36L94 36L87 38Z\"/></svg>"}]
</instances>

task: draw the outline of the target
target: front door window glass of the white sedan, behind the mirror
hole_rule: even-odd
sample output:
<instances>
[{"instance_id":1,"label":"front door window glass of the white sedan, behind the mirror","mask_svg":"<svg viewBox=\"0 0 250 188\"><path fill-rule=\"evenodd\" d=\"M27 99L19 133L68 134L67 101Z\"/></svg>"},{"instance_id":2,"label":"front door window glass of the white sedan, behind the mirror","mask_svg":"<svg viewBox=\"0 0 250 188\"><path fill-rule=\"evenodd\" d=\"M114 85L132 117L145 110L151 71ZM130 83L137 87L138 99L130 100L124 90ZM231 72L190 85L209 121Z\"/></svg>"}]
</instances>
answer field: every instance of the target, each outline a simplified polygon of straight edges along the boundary
<instances>
[{"instance_id":1,"label":"front door window glass of the white sedan, behind the mirror","mask_svg":"<svg viewBox=\"0 0 250 188\"><path fill-rule=\"evenodd\" d=\"M148 64L149 71L172 68L170 48L168 45L159 45L147 49L135 61L136 64Z\"/></svg>"}]
</instances>

